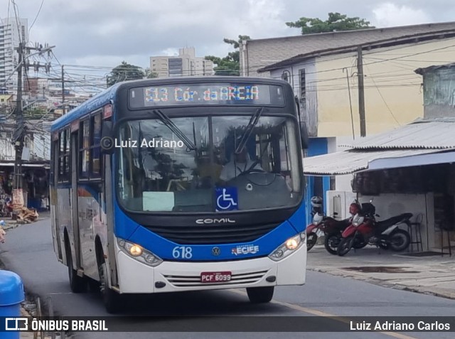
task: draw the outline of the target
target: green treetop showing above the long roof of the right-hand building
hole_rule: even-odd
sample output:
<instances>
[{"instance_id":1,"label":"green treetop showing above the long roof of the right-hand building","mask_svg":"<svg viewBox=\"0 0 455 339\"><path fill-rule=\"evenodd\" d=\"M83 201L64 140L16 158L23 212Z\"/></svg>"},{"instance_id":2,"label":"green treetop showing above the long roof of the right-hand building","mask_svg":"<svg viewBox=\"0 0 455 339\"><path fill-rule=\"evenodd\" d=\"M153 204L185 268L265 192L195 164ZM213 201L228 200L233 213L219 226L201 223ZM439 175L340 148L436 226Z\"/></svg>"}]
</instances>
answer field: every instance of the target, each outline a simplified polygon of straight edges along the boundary
<instances>
[{"instance_id":1,"label":"green treetop showing above the long roof of the right-hand building","mask_svg":"<svg viewBox=\"0 0 455 339\"><path fill-rule=\"evenodd\" d=\"M289 27L301 28L302 35L375 28L374 26L370 26L370 21L358 17L348 18L346 14L339 14L338 12L329 13L326 21L322 21L320 18L303 17L295 22L287 22L286 24Z\"/></svg>"}]
</instances>

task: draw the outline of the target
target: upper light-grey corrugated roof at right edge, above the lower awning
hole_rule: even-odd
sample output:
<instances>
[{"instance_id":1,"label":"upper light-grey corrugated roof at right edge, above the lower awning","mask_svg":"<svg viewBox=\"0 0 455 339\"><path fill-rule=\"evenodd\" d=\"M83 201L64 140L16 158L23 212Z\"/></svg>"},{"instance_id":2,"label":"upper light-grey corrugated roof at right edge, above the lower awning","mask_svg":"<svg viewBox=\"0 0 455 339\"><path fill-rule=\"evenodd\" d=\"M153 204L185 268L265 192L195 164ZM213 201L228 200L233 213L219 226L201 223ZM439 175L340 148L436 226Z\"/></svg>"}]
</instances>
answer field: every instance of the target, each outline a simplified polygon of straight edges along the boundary
<instances>
[{"instance_id":1,"label":"upper light-grey corrugated roof at right edge, above the lower awning","mask_svg":"<svg viewBox=\"0 0 455 339\"><path fill-rule=\"evenodd\" d=\"M393 131L358 139L354 149L455 148L455 118L420 119Z\"/></svg>"}]
</instances>

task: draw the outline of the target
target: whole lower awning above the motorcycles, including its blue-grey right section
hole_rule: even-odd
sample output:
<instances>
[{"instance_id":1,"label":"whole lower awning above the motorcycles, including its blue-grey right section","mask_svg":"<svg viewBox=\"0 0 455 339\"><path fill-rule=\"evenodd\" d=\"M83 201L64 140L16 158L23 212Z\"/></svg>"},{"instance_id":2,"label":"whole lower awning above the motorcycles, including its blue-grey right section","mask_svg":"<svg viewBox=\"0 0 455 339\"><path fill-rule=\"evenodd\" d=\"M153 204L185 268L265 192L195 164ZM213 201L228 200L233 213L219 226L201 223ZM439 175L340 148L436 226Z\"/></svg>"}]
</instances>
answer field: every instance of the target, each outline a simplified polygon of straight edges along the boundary
<instances>
[{"instance_id":1,"label":"whole lower awning above the motorcycles, including its blue-grey right section","mask_svg":"<svg viewBox=\"0 0 455 339\"><path fill-rule=\"evenodd\" d=\"M368 151L349 149L304 158L306 176L336 176L386 168L455 163L455 149L395 149Z\"/></svg>"}]
</instances>

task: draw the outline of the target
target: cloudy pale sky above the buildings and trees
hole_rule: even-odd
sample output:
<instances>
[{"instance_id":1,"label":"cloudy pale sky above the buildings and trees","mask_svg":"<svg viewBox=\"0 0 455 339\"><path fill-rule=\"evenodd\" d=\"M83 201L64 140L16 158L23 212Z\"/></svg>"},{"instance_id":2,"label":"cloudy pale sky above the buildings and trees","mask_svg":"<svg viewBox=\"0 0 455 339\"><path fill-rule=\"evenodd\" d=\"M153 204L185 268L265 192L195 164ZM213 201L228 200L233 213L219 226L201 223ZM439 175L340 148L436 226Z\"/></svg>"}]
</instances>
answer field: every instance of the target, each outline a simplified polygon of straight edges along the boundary
<instances>
[{"instance_id":1,"label":"cloudy pale sky above the buildings and trees","mask_svg":"<svg viewBox=\"0 0 455 339\"><path fill-rule=\"evenodd\" d=\"M0 18L28 18L31 42L55 45L53 64L113 68L122 60L149 67L151 55L223 57L223 38L297 36L287 21L340 12L375 27L455 21L454 0L0 0ZM34 23L33 23L34 21ZM32 26L33 23L33 26ZM74 68L76 70L77 68Z\"/></svg>"}]
</instances>

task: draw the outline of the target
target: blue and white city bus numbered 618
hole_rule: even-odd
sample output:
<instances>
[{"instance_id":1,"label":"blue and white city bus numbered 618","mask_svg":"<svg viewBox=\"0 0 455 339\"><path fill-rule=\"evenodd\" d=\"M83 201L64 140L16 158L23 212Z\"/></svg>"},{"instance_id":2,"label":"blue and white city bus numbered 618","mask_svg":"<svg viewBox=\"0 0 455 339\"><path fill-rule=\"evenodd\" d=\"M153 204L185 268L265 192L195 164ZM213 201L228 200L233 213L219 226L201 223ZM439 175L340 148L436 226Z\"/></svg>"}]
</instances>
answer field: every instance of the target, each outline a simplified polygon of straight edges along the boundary
<instances>
[{"instance_id":1,"label":"blue and white city bus numbered 618","mask_svg":"<svg viewBox=\"0 0 455 339\"><path fill-rule=\"evenodd\" d=\"M282 80L118 83L52 125L55 254L73 292L122 294L305 282L298 105Z\"/></svg>"}]
</instances>

